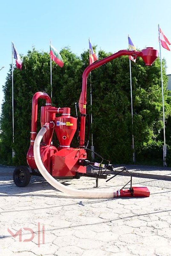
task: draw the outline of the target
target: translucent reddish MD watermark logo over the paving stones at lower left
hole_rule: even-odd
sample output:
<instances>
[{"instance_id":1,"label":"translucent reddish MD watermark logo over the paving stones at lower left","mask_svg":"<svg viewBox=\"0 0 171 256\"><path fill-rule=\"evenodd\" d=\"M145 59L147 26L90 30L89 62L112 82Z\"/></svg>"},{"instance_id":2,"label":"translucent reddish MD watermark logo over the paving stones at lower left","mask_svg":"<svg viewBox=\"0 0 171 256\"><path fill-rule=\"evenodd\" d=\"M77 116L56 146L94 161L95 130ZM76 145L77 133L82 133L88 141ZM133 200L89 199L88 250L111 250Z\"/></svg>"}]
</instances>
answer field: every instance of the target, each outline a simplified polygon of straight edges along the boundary
<instances>
[{"instance_id":1,"label":"translucent reddish MD watermark logo over the paving stones at lower left","mask_svg":"<svg viewBox=\"0 0 171 256\"><path fill-rule=\"evenodd\" d=\"M24 239L22 240L22 236L26 236L26 234L23 234L22 235L22 230L25 230L25 231L28 231L30 234L29 234L29 238L27 239ZM15 234L8 228L8 232L10 233L10 235L14 238L16 238L17 236L19 236L19 242L30 242L34 239L35 237L35 234L37 234L37 244L38 244L38 247L40 247L40 233L41 233L41 230L40 230L40 222L37 223L37 231L33 231L32 228L20 228ZM44 225L42 225L42 244L44 244Z\"/></svg>"}]
</instances>

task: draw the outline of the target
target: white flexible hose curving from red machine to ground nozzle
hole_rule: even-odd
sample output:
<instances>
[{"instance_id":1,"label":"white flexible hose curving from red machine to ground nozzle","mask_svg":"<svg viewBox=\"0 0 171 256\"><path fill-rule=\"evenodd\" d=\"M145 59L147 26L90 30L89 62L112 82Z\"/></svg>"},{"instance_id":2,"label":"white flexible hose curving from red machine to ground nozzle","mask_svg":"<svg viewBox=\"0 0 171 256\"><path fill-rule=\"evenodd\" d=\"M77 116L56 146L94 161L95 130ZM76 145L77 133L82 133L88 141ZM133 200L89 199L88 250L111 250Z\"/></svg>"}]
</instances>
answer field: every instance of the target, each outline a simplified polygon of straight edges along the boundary
<instances>
[{"instance_id":1,"label":"white flexible hose curving from red machine to ground nozzle","mask_svg":"<svg viewBox=\"0 0 171 256\"><path fill-rule=\"evenodd\" d=\"M44 167L41 157L40 157L40 142L43 138L43 135L47 131L46 128L42 127L41 130L38 132L35 143L34 143L34 157L35 157L35 163L37 165L38 170L42 174L45 180L51 184L54 188L58 189L59 191L70 195L70 196L79 196L79 197L89 197L89 198L113 198L118 197L118 192L113 191L105 191L104 189L100 190L82 190L82 189L75 189L75 188L69 188L65 185L61 184L57 180L55 180L51 174L46 170Z\"/></svg>"}]
</instances>

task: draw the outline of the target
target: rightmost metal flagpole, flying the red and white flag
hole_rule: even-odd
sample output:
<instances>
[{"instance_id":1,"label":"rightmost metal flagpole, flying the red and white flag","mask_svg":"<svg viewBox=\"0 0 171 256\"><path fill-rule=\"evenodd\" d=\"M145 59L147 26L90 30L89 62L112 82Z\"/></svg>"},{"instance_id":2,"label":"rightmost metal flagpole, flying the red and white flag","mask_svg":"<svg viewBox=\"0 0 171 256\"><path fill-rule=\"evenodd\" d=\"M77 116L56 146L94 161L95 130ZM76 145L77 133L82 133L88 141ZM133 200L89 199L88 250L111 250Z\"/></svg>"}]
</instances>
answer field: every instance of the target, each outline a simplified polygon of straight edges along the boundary
<instances>
[{"instance_id":1,"label":"rightmost metal flagpole, flying the red and white flag","mask_svg":"<svg viewBox=\"0 0 171 256\"><path fill-rule=\"evenodd\" d=\"M164 135L164 145L163 145L163 166L166 167L166 136L165 136L165 109L164 109L164 93L163 93L163 73L162 73L162 59L161 59L161 42L160 42L160 28L159 30L159 50L160 50L160 68L161 68L161 91L162 91L162 104L163 104L163 135Z\"/></svg>"}]
</instances>

